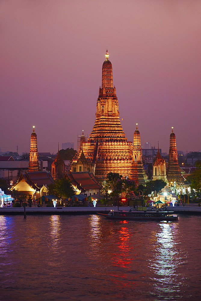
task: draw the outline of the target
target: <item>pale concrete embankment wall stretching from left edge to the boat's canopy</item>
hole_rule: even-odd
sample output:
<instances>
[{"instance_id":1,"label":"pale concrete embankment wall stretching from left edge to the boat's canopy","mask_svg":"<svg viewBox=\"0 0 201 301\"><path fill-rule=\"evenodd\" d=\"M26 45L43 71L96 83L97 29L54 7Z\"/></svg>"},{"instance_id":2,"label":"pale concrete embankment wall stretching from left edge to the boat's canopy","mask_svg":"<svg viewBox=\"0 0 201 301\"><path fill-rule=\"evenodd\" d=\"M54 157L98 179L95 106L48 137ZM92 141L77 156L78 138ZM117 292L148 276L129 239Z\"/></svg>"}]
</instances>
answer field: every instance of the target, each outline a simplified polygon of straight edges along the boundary
<instances>
[{"instance_id":1,"label":"pale concrete embankment wall stretching from left edge to the boat's canopy","mask_svg":"<svg viewBox=\"0 0 201 301\"><path fill-rule=\"evenodd\" d=\"M110 210L117 210L117 207L26 207L26 214L95 214L97 212L108 213ZM119 210L129 210L130 207L119 207ZM0 208L0 215L24 214L24 207Z\"/></svg>"}]
</instances>

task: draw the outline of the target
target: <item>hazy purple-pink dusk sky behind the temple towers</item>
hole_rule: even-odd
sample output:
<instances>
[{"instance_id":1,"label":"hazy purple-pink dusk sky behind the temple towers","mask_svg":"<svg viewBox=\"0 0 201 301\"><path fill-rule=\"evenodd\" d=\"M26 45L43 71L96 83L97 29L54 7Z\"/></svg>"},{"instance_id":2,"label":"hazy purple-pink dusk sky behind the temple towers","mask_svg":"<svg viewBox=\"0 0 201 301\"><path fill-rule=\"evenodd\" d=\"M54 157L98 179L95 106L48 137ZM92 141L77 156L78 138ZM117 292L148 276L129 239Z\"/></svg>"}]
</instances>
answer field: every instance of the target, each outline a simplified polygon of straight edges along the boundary
<instances>
[{"instance_id":1,"label":"hazy purple-pink dusk sky behind the temple towers","mask_svg":"<svg viewBox=\"0 0 201 301\"><path fill-rule=\"evenodd\" d=\"M128 141L198 151L200 0L1 0L2 151L40 152L90 134L105 50Z\"/></svg>"}]
</instances>

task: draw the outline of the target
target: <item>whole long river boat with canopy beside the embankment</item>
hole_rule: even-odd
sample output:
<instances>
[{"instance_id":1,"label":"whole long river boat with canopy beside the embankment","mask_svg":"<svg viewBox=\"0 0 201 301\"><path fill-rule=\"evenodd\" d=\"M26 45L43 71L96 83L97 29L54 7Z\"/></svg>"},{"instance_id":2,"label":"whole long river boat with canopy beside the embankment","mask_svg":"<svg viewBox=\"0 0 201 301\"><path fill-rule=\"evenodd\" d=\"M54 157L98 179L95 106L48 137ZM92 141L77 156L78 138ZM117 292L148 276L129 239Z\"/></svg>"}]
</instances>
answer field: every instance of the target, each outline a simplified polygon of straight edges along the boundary
<instances>
[{"instance_id":1,"label":"whole long river boat with canopy beside the embankment","mask_svg":"<svg viewBox=\"0 0 201 301\"><path fill-rule=\"evenodd\" d=\"M108 214L98 213L107 219L118 220L156 220L156 221L176 221L178 215L173 214L173 211L114 211L111 210Z\"/></svg>"}]
</instances>

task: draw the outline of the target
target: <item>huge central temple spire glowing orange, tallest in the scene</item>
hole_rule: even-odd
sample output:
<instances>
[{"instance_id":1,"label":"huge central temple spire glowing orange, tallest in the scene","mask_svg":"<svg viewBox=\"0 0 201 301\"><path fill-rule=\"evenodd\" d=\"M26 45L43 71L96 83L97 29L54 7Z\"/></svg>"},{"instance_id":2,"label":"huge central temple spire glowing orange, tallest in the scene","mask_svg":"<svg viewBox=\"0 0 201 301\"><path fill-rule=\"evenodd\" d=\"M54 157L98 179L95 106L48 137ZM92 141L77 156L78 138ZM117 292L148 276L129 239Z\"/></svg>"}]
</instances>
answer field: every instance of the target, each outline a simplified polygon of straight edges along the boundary
<instances>
[{"instance_id":1,"label":"huge central temple spire glowing orange, tallest in the scene","mask_svg":"<svg viewBox=\"0 0 201 301\"><path fill-rule=\"evenodd\" d=\"M73 158L71 171L88 170L93 172L99 181L107 178L109 172L133 178L133 144L125 138L120 123L118 99L116 88L113 87L113 71L112 64L108 60L108 52L105 57L95 124L88 141L82 142L82 147ZM143 165L141 167L144 170ZM135 175L135 178L137 177L138 175Z\"/></svg>"}]
</instances>

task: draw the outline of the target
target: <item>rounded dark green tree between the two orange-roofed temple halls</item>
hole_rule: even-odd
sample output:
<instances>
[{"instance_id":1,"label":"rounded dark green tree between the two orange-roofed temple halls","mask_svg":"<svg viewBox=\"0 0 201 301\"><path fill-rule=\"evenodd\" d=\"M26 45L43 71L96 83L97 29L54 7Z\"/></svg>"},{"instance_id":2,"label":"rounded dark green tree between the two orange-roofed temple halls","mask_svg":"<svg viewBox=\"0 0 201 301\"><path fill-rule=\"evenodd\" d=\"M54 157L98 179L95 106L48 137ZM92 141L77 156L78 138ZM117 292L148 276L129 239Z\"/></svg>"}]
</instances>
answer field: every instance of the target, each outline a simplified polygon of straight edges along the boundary
<instances>
[{"instance_id":1,"label":"rounded dark green tree between the two orange-roofed temple halls","mask_svg":"<svg viewBox=\"0 0 201 301\"><path fill-rule=\"evenodd\" d=\"M76 190L68 178L61 178L55 184L48 185L48 193L54 194L60 199L66 199L76 194Z\"/></svg>"}]
</instances>

